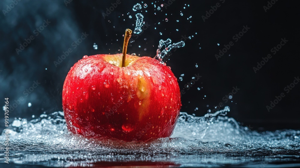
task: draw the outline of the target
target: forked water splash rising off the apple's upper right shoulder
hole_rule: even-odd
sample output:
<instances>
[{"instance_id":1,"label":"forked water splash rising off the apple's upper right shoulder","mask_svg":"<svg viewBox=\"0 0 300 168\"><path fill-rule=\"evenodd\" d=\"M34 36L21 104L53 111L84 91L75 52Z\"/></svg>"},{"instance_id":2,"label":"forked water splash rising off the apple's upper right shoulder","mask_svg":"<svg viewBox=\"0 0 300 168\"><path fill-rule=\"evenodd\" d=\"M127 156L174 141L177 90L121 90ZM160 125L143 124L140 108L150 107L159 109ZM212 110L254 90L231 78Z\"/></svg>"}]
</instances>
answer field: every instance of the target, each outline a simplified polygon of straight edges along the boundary
<instances>
[{"instance_id":1,"label":"forked water splash rising off the apple's upper right shoulder","mask_svg":"<svg viewBox=\"0 0 300 168\"><path fill-rule=\"evenodd\" d=\"M168 52L171 51L171 49L173 49L174 47L175 48L183 47L185 45L184 41L180 41L178 43L170 44L171 42L172 41L171 41L170 38L168 38L166 41L160 40L159 45L158 45L158 49L156 51L156 56L154 58L158 58L158 60L160 60L162 63L164 63L162 60L168 54ZM167 46L167 47L163 51L161 51L161 48L163 46Z\"/></svg>"}]
</instances>

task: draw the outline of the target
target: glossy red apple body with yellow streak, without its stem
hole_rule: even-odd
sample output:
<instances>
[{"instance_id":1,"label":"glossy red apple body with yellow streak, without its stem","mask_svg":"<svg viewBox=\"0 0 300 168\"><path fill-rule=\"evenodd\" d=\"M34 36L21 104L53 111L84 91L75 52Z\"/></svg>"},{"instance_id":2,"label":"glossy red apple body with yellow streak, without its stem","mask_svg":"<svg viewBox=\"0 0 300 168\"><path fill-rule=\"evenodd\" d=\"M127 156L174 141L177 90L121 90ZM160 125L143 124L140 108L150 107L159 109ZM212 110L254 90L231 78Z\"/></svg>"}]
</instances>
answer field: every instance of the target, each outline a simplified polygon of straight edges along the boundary
<instances>
[{"instance_id":1,"label":"glossy red apple body with yellow streak, without its stem","mask_svg":"<svg viewBox=\"0 0 300 168\"><path fill-rule=\"evenodd\" d=\"M180 108L173 72L157 59L122 54L84 56L64 81L67 128L85 137L146 141L169 137Z\"/></svg>"}]
</instances>

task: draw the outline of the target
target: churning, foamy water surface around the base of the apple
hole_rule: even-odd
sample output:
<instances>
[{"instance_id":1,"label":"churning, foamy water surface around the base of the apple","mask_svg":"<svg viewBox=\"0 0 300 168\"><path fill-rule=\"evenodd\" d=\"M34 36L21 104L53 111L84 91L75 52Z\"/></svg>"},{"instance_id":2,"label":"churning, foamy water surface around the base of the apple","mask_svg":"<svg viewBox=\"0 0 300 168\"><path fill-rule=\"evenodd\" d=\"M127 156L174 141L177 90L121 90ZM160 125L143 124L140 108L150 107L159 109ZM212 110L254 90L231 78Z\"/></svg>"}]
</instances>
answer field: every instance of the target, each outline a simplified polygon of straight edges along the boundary
<instances>
[{"instance_id":1,"label":"churning, foamy water surface around the base of the apple","mask_svg":"<svg viewBox=\"0 0 300 168\"><path fill-rule=\"evenodd\" d=\"M16 119L10 128L10 163L50 167L113 166L128 161L182 167L300 166L300 131L250 131L227 117L229 111L225 107L203 117L180 113L170 138L138 143L69 133L63 112L42 114L31 121ZM5 139L4 134L0 139ZM4 147L1 143L2 161Z\"/></svg>"}]
</instances>

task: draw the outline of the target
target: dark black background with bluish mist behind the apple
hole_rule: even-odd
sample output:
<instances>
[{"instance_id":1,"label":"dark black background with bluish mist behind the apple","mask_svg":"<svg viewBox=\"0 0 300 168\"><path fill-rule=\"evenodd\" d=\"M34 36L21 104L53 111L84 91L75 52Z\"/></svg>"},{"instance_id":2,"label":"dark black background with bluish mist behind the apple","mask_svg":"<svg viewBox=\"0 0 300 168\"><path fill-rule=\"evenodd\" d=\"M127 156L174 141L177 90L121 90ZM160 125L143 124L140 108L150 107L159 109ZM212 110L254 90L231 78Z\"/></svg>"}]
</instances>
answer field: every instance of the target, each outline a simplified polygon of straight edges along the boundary
<instances>
[{"instance_id":1,"label":"dark black background with bluish mist behind the apple","mask_svg":"<svg viewBox=\"0 0 300 168\"><path fill-rule=\"evenodd\" d=\"M36 118L42 113L62 111L62 86L70 67L83 55L115 54L123 45L125 29L133 30L135 14L142 13L150 26L139 38L133 37L134 42L128 47L130 54L154 57L160 39L171 38L172 42L179 42L182 36L191 36L191 39L185 40L183 48L172 51L167 61L178 79L184 74L183 81L178 81L180 88L186 92L182 95L182 112L203 116L209 109L213 110L214 106L223 103L231 109L229 117L251 129L300 128L300 84L289 93L284 91L286 85L300 75L297 1L278 0L266 12L263 7L268 5L266 0L176 0L170 1L172 4L167 9L166 5L161 7L160 11L156 8L168 1L120 1L121 4L105 18L102 13L112 6L111 3L116 3L115 0L73 0L67 6L64 0L22 0L5 16L3 10L7 10L6 5L12 1L0 2L0 104L1 107L4 105L6 97L10 106L20 103L9 114L10 122L14 117L31 119L32 115ZM136 3L142 6L146 3L148 7L135 12L132 7ZM220 3L220 7L204 22L202 15L205 16L216 3ZM181 12L183 16L180 16ZM36 36L34 31L43 25L44 19L50 23ZM242 31L243 26L250 29L235 42L232 38ZM86 32L88 37L74 49L71 44L80 38L82 32ZM34 40L17 54L16 48L31 35ZM281 38L288 42L273 55L270 50L280 44ZM234 45L217 60L215 54L230 41ZM94 43L98 45L97 50L93 48ZM58 61L68 48L72 52L55 67L53 62ZM268 54L272 58L255 73L253 67ZM195 67L196 64L198 67ZM189 90L184 88L198 73L202 77ZM41 84L28 96L23 94L37 80ZM235 86L240 90L225 103L222 98ZM198 87L201 89L197 90ZM270 101L282 92L285 97L268 111L266 106L270 106ZM24 100L18 101L21 96ZM31 107L28 107L29 102ZM1 116L1 128L3 122L4 114Z\"/></svg>"}]
</instances>

